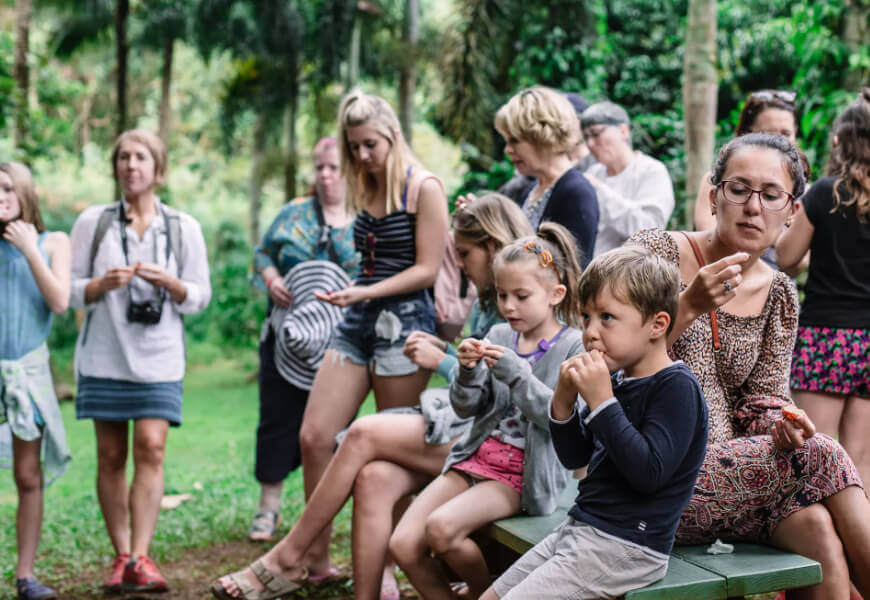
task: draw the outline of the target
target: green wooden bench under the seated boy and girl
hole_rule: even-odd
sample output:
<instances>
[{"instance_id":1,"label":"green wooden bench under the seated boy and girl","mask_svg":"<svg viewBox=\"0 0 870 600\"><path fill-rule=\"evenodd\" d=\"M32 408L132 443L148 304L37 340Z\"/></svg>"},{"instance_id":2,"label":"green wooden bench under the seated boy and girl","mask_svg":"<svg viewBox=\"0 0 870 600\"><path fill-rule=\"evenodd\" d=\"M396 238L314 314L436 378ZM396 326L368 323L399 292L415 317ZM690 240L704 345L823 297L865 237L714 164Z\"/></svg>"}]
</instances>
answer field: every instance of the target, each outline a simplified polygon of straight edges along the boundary
<instances>
[{"instance_id":1,"label":"green wooden bench under the seated boy and girl","mask_svg":"<svg viewBox=\"0 0 870 600\"><path fill-rule=\"evenodd\" d=\"M511 517L484 528L480 537L522 554L565 519L573 486L546 517ZM707 546L675 546L664 579L625 595L626 600L725 600L821 582L814 560L756 544L735 544L733 554L707 554Z\"/></svg>"}]
</instances>

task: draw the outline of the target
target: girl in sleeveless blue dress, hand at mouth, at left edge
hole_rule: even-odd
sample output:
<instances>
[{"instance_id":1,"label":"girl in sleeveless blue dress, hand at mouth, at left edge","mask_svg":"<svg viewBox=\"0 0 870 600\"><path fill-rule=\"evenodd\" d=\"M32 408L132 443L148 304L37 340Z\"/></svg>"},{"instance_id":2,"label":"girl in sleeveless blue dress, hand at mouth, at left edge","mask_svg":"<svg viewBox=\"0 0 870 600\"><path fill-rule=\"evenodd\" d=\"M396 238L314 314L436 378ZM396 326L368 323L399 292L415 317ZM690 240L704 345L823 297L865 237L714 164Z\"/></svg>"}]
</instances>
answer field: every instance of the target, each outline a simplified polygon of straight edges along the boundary
<instances>
[{"instance_id":1,"label":"girl in sleeveless blue dress, hand at mouth, at left edge","mask_svg":"<svg viewBox=\"0 0 870 600\"><path fill-rule=\"evenodd\" d=\"M69 303L70 243L45 230L33 178L20 163L0 164L0 234L0 466L12 467L18 490L18 598L46 600L57 594L33 575L43 488L70 455L45 340Z\"/></svg>"}]
</instances>

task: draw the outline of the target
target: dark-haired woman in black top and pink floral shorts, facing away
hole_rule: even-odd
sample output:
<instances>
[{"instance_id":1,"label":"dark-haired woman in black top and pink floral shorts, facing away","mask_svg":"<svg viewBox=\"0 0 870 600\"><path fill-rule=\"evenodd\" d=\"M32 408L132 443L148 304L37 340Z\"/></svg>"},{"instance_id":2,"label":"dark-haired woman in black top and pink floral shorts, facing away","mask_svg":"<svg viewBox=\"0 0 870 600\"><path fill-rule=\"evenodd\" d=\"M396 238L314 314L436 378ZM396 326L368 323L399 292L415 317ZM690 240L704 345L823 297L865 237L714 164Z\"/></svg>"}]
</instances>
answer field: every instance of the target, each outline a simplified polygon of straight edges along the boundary
<instances>
[{"instance_id":1,"label":"dark-haired woman in black top and pink floral shorts, facing away","mask_svg":"<svg viewBox=\"0 0 870 600\"><path fill-rule=\"evenodd\" d=\"M870 88L834 123L827 177L801 199L776 256L811 249L791 366L795 402L870 481Z\"/></svg>"}]
</instances>

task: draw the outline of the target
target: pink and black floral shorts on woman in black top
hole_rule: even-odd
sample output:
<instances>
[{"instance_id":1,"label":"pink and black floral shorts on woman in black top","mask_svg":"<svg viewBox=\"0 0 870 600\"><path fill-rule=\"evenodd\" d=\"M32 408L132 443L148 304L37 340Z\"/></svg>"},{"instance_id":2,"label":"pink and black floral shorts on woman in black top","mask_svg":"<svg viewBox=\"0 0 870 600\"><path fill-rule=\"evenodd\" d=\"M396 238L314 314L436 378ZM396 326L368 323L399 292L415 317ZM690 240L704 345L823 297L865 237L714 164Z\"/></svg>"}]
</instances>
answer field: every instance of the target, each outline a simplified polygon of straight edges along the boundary
<instances>
[{"instance_id":1,"label":"pink and black floral shorts on woman in black top","mask_svg":"<svg viewBox=\"0 0 870 600\"><path fill-rule=\"evenodd\" d=\"M870 398L870 330L798 327L791 389Z\"/></svg>"}]
</instances>

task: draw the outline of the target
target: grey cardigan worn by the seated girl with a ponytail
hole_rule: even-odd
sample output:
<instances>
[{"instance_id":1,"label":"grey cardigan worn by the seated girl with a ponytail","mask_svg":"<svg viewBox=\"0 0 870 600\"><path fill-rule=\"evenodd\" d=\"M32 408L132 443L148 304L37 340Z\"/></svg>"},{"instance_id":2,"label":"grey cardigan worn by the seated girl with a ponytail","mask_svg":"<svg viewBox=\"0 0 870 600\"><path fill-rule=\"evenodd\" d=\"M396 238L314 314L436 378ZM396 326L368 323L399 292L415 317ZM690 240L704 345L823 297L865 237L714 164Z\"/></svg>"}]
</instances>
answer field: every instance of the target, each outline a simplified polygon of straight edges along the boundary
<instances>
[{"instance_id":1,"label":"grey cardigan worn by the seated girl with a ponytail","mask_svg":"<svg viewBox=\"0 0 870 600\"><path fill-rule=\"evenodd\" d=\"M450 384L450 402L460 417L474 417L471 429L450 451L442 472L470 457L498 426L513 403L528 420L523 459L522 510L531 515L556 510L559 494L568 481L550 440L550 402L565 359L583 351L582 334L566 329L534 366L512 350L514 332L506 323L493 326L487 338L505 348L488 369L484 361L473 369L459 367Z\"/></svg>"}]
</instances>

